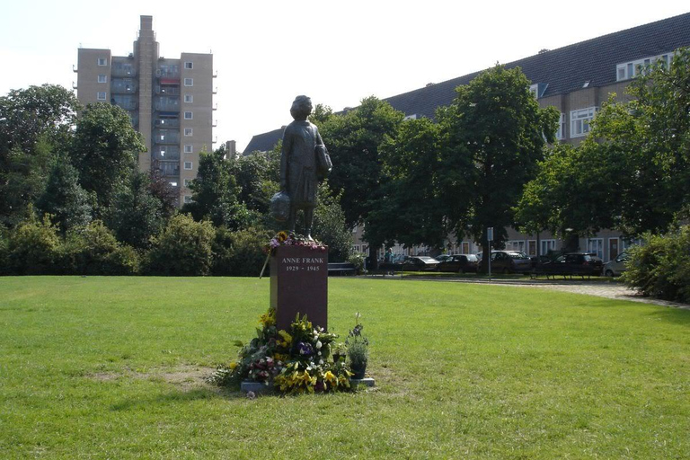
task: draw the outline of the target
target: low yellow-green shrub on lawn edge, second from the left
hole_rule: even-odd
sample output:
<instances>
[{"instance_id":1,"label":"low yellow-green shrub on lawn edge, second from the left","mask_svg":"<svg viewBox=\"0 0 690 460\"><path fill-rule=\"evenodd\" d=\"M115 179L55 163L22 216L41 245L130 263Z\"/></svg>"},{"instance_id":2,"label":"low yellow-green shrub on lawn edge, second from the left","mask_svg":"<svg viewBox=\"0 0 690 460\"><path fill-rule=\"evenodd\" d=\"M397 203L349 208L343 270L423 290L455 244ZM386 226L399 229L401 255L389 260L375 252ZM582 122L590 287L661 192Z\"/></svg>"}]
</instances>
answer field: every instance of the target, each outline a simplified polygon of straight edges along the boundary
<instances>
[{"instance_id":1,"label":"low yellow-green shrub on lawn edge, second from the left","mask_svg":"<svg viewBox=\"0 0 690 460\"><path fill-rule=\"evenodd\" d=\"M117 241L101 221L70 231L60 257L60 271L80 275L133 275L138 254Z\"/></svg>"}]
</instances>

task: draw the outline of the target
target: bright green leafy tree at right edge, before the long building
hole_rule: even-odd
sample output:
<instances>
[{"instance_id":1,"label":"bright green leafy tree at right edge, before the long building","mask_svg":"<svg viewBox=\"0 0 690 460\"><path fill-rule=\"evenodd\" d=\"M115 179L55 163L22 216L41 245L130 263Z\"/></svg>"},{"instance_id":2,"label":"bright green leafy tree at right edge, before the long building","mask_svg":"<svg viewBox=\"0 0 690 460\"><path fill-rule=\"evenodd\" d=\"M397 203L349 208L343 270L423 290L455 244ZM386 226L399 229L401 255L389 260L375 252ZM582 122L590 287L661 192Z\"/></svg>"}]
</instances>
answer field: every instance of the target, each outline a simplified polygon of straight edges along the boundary
<instances>
[{"instance_id":1,"label":"bright green leafy tree at right edge, before the long building","mask_svg":"<svg viewBox=\"0 0 690 460\"><path fill-rule=\"evenodd\" d=\"M554 149L517 207L523 226L634 236L665 231L690 208L689 66L681 49L670 67L641 69L632 101L612 94L578 148Z\"/></svg>"}]
</instances>

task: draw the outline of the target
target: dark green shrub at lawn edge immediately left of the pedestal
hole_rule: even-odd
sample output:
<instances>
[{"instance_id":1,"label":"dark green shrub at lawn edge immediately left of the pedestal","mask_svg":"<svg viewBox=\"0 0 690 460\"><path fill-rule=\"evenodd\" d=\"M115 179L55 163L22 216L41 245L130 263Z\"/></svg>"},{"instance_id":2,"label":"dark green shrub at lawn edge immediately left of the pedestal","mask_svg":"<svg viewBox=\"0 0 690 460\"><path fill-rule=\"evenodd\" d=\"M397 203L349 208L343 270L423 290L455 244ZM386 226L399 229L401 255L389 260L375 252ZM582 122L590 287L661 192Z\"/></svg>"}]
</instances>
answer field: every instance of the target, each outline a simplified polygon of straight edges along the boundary
<instances>
[{"instance_id":1,"label":"dark green shrub at lawn edge immediately left of the pedestal","mask_svg":"<svg viewBox=\"0 0 690 460\"><path fill-rule=\"evenodd\" d=\"M218 227L213 242L213 274L258 277L266 260L263 246L270 237L270 231L261 228L233 232L226 226Z\"/></svg>"}]
</instances>

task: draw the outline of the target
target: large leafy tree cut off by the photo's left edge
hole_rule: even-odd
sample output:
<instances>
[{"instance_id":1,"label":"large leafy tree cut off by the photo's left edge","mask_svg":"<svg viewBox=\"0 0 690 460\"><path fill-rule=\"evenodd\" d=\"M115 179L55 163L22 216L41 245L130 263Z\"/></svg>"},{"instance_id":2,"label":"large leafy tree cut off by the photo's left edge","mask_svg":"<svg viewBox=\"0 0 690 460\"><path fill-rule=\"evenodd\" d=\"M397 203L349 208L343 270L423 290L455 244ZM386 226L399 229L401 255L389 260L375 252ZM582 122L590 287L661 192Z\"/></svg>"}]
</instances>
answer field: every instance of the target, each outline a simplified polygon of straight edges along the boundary
<instances>
[{"instance_id":1,"label":"large leafy tree cut off by the photo's left edge","mask_svg":"<svg viewBox=\"0 0 690 460\"><path fill-rule=\"evenodd\" d=\"M69 143L78 108L74 93L51 84L0 97L0 223L14 226L29 217L29 204Z\"/></svg>"}]
</instances>

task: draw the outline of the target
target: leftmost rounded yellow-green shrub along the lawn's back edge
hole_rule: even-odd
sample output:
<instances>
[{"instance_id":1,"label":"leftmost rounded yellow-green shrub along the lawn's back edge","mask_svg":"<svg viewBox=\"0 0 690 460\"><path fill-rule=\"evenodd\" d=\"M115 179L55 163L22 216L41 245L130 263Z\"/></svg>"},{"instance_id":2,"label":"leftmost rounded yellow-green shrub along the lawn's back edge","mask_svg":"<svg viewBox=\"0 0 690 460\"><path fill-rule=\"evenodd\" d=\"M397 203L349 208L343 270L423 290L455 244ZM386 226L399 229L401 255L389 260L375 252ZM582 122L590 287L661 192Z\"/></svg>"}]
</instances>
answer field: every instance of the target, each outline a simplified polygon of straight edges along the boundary
<instances>
[{"instance_id":1,"label":"leftmost rounded yellow-green shrub along the lawn's back edge","mask_svg":"<svg viewBox=\"0 0 690 460\"><path fill-rule=\"evenodd\" d=\"M31 217L9 234L7 259L9 271L15 275L46 275L56 272L62 242L57 227L47 215L42 221Z\"/></svg>"}]
</instances>

